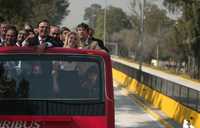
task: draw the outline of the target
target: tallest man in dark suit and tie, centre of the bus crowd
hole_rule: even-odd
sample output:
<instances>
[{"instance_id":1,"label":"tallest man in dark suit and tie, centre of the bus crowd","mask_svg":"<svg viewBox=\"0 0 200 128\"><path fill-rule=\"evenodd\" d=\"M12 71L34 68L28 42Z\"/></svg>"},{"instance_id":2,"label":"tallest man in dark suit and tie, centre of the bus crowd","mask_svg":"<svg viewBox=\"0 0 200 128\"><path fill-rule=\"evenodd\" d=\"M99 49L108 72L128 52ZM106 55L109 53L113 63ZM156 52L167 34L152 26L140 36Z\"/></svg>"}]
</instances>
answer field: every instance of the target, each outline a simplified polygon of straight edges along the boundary
<instances>
[{"instance_id":1,"label":"tallest man in dark suit and tie, centre of the bus crowd","mask_svg":"<svg viewBox=\"0 0 200 128\"><path fill-rule=\"evenodd\" d=\"M26 39L22 46L39 46L39 47L61 47L61 45L49 36L50 24L47 20L38 23L38 35Z\"/></svg>"}]
</instances>

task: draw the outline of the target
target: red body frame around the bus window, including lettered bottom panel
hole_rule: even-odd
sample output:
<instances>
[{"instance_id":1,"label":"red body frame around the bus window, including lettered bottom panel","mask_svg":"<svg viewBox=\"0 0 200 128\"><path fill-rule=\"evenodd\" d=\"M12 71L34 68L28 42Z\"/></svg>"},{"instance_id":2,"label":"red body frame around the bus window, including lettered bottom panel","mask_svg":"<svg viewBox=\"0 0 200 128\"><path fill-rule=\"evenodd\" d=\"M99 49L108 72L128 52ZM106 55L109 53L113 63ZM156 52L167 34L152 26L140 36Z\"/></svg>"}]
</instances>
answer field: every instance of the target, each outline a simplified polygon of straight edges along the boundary
<instances>
[{"instance_id":1,"label":"red body frame around the bus window, including lettered bottom panel","mask_svg":"<svg viewBox=\"0 0 200 128\"><path fill-rule=\"evenodd\" d=\"M48 48L38 50L31 47L0 48L2 54L73 54L95 55L103 58L105 63L105 115L103 116L32 116L32 115L0 115L0 128L114 128L114 96L112 80L112 64L110 56L102 51Z\"/></svg>"}]
</instances>

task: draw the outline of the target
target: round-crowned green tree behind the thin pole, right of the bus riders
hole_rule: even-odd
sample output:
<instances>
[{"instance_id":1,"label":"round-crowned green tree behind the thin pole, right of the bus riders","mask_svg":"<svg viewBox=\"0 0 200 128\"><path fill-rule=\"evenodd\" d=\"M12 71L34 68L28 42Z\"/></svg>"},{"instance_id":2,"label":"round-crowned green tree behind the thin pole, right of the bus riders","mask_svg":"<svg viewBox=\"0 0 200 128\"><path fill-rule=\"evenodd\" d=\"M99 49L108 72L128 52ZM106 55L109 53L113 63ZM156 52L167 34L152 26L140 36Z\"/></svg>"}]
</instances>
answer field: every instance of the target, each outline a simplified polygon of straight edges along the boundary
<instances>
[{"instance_id":1,"label":"round-crowned green tree behind the thin pole, right of the bus riders","mask_svg":"<svg viewBox=\"0 0 200 128\"><path fill-rule=\"evenodd\" d=\"M129 16L121 9L113 6L106 8L106 41L114 41L112 37L119 36L118 42L121 40L120 35L128 34L127 31L132 28ZM103 39L104 36L104 11L98 4L92 4L85 9L84 20L88 21L88 24L95 28L95 36ZM124 31L123 31L124 30ZM118 34L119 33L119 34ZM126 45L119 44L121 55L127 55Z\"/></svg>"}]
</instances>

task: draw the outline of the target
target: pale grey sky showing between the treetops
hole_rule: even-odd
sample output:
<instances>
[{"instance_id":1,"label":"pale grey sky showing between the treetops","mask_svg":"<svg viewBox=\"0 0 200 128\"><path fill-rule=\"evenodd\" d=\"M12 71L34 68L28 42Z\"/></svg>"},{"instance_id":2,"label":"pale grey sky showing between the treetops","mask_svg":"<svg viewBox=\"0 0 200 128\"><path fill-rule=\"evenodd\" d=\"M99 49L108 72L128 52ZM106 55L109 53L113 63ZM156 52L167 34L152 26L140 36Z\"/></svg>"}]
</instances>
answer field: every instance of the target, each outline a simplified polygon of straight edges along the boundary
<instances>
[{"instance_id":1,"label":"pale grey sky showing between the treetops","mask_svg":"<svg viewBox=\"0 0 200 128\"><path fill-rule=\"evenodd\" d=\"M120 7L126 13L130 13L129 3L131 0L69 0L69 10L71 12L62 21L62 26L67 26L72 29L79 23L84 22L83 15L85 8L90 7L90 5L94 3L100 4L102 8L104 8L105 1L107 1L107 6L112 5Z\"/></svg>"}]
</instances>

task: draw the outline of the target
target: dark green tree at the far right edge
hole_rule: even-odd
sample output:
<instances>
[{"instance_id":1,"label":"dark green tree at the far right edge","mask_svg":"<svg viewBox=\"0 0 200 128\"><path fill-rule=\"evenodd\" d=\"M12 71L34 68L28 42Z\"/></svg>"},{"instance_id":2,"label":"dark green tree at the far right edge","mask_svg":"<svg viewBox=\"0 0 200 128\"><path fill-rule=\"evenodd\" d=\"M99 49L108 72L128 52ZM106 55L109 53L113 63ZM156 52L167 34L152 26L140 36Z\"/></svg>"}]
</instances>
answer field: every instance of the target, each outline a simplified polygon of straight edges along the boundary
<instances>
[{"instance_id":1,"label":"dark green tree at the far right edge","mask_svg":"<svg viewBox=\"0 0 200 128\"><path fill-rule=\"evenodd\" d=\"M200 78L200 1L198 0L165 0L164 5L172 12L176 10L182 11L181 24L182 28L186 28L183 43L187 43L189 49L187 53L187 64L193 69L191 75ZM180 24L180 22L178 22ZM182 37L180 37L182 38ZM191 63L192 62L192 63Z\"/></svg>"}]
</instances>

